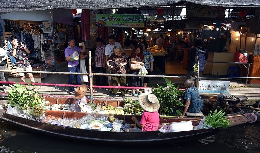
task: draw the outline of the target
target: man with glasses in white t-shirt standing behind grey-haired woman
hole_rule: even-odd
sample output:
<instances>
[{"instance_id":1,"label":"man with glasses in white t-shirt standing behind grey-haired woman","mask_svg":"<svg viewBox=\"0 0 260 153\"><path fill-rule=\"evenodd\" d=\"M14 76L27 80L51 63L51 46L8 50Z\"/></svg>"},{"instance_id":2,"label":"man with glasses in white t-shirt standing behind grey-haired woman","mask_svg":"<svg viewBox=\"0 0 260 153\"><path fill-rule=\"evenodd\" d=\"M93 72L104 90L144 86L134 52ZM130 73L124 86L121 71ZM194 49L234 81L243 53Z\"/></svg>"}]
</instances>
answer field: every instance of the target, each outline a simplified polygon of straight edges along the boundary
<instances>
[{"instance_id":1,"label":"man with glasses in white t-shirt standing behind grey-haired woman","mask_svg":"<svg viewBox=\"0 0 260 153\"><path fill-rule=\"evenodd\" d=\"M121 44L116 42L116 38L115 38L114 35L110 35L108 37L108 42L109 42L109 44L107 44L107 46L105 48L106 60L114 53L113 52L114 46L120 46L121 47ZM114 64L113 62L110 63L110 65L113 65L113 64ZM110 69L108 69L108 72L111 73ZM108 85L112 86L111 76L108 76ZM109 92L112 93L111 88L109 89Z\"/></svg>"}]
</instances>

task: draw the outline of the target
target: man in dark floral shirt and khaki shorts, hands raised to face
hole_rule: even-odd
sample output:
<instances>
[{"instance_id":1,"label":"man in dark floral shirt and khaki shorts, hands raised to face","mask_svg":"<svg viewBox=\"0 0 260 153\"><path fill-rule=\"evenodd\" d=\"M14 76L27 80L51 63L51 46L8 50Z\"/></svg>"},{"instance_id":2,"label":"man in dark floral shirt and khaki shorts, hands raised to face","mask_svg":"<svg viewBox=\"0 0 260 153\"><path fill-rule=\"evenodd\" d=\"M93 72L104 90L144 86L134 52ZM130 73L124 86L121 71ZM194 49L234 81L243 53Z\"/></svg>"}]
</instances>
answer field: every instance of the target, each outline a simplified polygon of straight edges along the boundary
<instances>
[{"instance_id":1,"label":"man in dark floral shirt and khaki shorts, hands raised to face","mask_svg":"<svg viewBox=\"0 0 260 153\"><path fill-rule=\"evenodd\" d=\"M16 59L16 66L18 71L32 71L31 64L26 57L26 53L30 53L24 44L19 43L17 37L11 36L10 41L12 43L12 47L10 48L10 55L14 56ZM26 52L26 53L25 53ZM23 72L18 73L21 77L21 82L25 82L25 74ZM35 82L32 73L27 73L31 82ZM34 86L34 91L36 88Z\"/></svg>"}]
</instances>

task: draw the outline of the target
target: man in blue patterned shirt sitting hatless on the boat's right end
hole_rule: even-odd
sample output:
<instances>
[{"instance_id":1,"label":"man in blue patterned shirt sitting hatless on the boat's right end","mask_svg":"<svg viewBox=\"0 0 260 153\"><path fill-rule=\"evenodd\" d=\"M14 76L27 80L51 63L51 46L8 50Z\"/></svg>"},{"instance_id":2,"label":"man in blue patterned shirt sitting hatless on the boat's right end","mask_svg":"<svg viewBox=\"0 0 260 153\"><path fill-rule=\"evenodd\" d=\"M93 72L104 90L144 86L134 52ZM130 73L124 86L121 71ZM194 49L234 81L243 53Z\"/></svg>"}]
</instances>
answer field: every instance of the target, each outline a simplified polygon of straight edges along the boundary
<instances>
[{"instance_id":1,"label":"man in blue patterned shirt sitting hatless on the boat's right end","mask_svg":"<svg viewBox=\"0 0 260 153\"><path fill-rule=\"evenodd\" d=\"M203 107L203 102L201 101L199 90L193 85L193 79L187 79L184 83L184 86L187 89L184 96L186 105L182 115L178 118L183 118L187 111L190 113L199 113Z\"/></svg>"}]
</instances>

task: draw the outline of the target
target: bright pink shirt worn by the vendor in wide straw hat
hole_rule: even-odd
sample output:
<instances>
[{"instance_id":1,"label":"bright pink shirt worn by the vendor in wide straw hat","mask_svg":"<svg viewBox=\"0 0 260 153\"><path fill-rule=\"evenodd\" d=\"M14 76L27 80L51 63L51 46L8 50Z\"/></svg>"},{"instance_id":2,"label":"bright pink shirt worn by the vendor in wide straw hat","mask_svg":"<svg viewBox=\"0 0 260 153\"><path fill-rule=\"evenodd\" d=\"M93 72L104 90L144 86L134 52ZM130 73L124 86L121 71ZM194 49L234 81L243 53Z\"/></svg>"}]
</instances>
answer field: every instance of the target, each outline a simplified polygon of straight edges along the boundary
<instances>
[{"instance_id":1,"label":"bright pink shirt worn by the vendor in wide straw hat","mask_svg":"<svg viewBox=\"0 0 260 153\"><path fill-rule=\"evenodd\" d=\"M157 131L159 123L160 119L158 111L153 113L147 112L146 110L144 111L140 121L140 124L144 125L142 131Z\"/></svg>"}]
</instances>

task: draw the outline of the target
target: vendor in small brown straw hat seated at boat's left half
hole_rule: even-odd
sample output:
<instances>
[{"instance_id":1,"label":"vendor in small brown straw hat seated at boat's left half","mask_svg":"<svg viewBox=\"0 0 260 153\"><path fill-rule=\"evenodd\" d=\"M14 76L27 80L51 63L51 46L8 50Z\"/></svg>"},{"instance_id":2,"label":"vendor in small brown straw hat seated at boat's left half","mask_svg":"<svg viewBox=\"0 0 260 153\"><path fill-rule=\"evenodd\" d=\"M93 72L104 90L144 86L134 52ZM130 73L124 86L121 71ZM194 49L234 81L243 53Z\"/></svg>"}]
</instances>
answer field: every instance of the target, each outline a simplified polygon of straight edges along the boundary
<instances>
[{"instance_id":1,"label":"vendor in small brown straw hat seated at boat's left half","mask_svg":"<svg viewBox=\"0 0 260 153\"><path fill-rule=\"evenodd\" d=\"M82 110L80 107L80 104L88 104L87 102L87 97L85 96L88 91L88 86L86 84L80 85L76 90L75 90L75 111L76 112L84 112L85 114L88 114L88 112Z\"/></svg>"}]
</instances>

